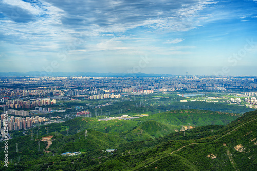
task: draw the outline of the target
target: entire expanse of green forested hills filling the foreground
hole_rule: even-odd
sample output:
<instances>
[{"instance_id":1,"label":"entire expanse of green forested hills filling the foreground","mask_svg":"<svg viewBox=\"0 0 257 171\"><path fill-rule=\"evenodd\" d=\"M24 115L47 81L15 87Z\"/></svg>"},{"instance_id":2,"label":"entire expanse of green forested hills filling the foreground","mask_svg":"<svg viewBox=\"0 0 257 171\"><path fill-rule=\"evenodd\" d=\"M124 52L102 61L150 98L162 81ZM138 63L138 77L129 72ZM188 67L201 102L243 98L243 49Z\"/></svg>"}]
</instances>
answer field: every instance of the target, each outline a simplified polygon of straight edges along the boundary
<instances>
[{"instance_id":1,"label":"entire expanse of green forested hills filling the foreground","mask_svg":"<svg viewBox=\"0 0 257 171\"><path fill-rule=\"evenodd\" d=\"M228 122L226 118L232 120L233 117L235 120L224 126ZM54 135L55 140L50 146L50 153L42 152L38 155L29 152L32 159L24 159L19 163L13 160L8 168L0 166L0 169L255 170L257 165L257 111L247 112L237 119L236 117L228 113L174 110L137 119L138 125L135 124L136 126L132 129L123 132L103 133L88 129L86 140L84 131L69 136ZM223 124L208 125L216 121L213 122L212 119L208 121L207 118L219 120ZM173 130L174 125L187 123L188 120L192 121L192 125L195 123L196 125L207 124L207 126L197 126L185 132L169 134L168 130ZM82 120L80 122L83 124ZM117 122L112 122L112 124L117 124ZM30 136L25 137L27 140L25 139L24 142L30 141ZM109 148L115 151L105 152L105 149ZM14 150L15 148L12 147L11 151ZM60 155L62 152L74 151L83 153L77 156ZM52 152L56 155L52 156ZM15 152L11 153L15 154Z\"/></svg>"}]
</instances>

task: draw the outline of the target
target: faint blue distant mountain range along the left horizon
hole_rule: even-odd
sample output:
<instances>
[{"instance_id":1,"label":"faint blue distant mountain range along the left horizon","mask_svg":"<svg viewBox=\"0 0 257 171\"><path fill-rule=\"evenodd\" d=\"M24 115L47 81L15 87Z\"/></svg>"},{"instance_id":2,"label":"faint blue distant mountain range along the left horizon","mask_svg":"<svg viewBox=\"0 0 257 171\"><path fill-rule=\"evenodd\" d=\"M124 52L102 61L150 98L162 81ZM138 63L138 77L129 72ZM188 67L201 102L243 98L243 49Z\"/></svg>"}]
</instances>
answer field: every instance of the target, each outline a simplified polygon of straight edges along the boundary
<instances>
[{"instance_id":1,"label":"faint blue distant mountain range along the left horizon","mask_svg":"<svg viewBox=\"0 0 257 171\"><path fill-rule=\"evenodd\" d=\"M167 77L170 74L145 74L145 73L96 73L96 72L0 72L0 76L87 76L87 77Z\"/></svg>"}]
</instances>

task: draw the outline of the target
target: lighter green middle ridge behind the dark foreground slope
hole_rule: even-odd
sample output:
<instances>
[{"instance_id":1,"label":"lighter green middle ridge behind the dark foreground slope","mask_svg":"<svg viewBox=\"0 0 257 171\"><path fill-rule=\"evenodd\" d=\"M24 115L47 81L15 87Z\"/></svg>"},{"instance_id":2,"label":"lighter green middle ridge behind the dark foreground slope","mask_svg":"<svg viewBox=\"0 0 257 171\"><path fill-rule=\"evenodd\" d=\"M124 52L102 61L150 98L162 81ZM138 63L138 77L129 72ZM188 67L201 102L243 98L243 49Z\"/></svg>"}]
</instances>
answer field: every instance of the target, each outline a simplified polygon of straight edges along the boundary
<instances>
[{"instance_id":1,"label":"lighter green middle ridge behind the dark foreground slope","mask_svg":"<svg viewBox=\"0 0 257 171\"><path fill-rule=\"evenodd\" d=\"M66 135L66 128L68 127L69 135L76 134L85 129L97 130L102 133L122 133L133 130L147 121L157 121L166 126L173 127L189 124L191 126L226 125L240 116L240 114L206 110L172 110L133 120L114 119L109 121L98 121L95 118L78 117L67 122L42 126L42 129L38 131L41 135L44 135L46 134L46 127L48 127L49 132L57 131ZM163 132L160 133L160 135L163 135Z\"/></svg>"}]
</instances>

